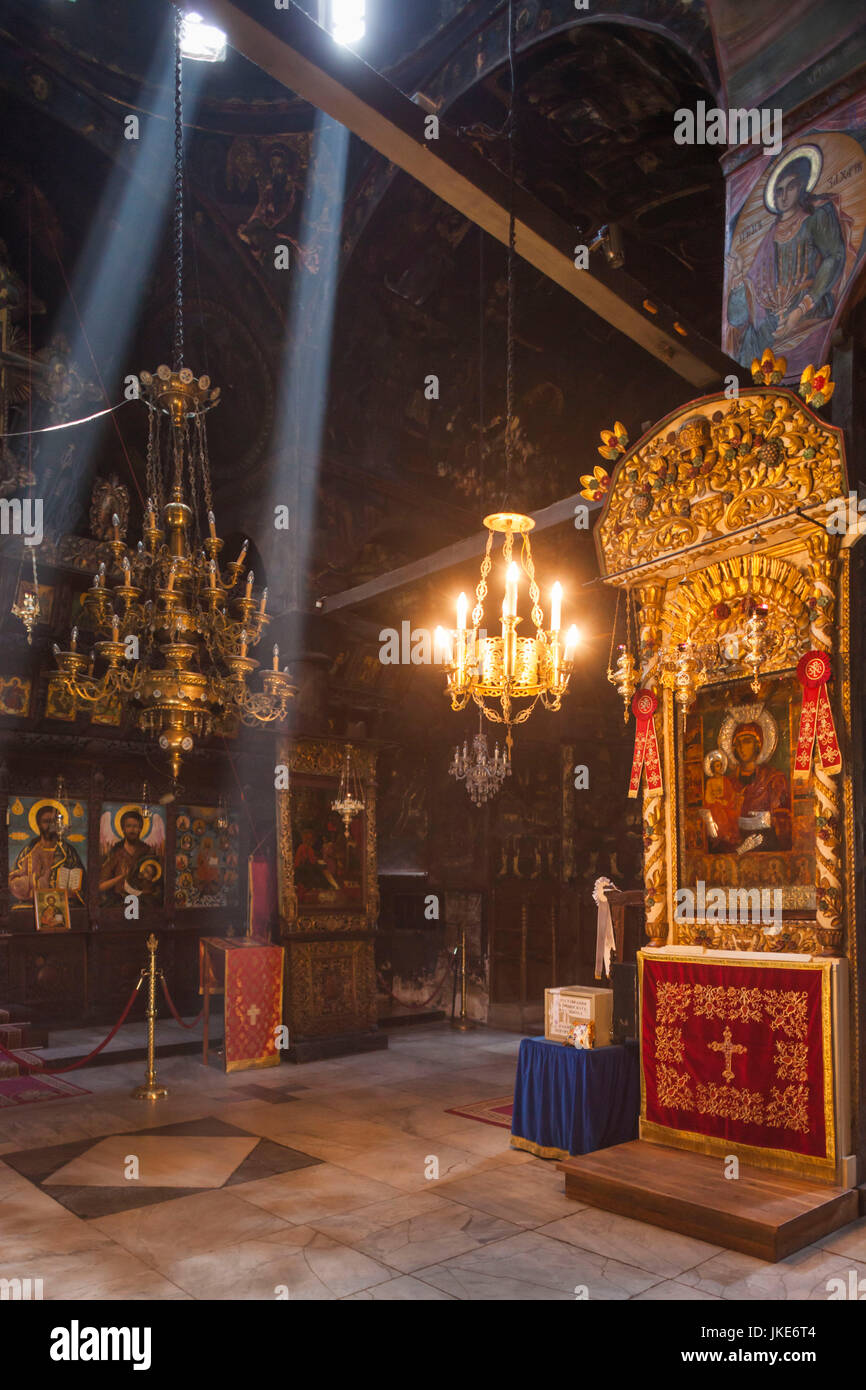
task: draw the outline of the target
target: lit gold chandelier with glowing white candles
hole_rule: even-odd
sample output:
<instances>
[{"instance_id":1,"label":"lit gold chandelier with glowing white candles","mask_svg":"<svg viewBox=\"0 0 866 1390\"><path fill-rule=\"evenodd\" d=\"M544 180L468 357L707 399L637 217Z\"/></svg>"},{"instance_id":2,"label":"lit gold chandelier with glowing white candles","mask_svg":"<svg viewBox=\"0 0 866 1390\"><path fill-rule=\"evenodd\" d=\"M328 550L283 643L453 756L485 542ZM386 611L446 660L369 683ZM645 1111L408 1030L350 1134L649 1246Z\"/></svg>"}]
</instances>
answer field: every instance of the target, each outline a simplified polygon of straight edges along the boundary
<instances>
[{"instance_id":1,"label":"lit gold chandelier with glowing white candles","mask_svg":"<svg viewBox=\"0 0 866 1390\"><path fill-rule=\"evenodd\" d=\"M446 694L450 708L463 710L474 701L482 714L496 724L505 724L506 749L512 752L512 728L523 724L535 709L538 701L545 709L560 708L569 688L571 662L578 642L578 631L571 627L562 637L562 585L550 589L550 624L544 626L539 605L539 588L535 580L530 531L535 525L532 517L520 512L496 512L484 518L488 530L487 549L481 562L481 578L475 588L475 606L471 627L467 627L468 600L466 594L457 599L457 627L436 628L436 642L448 667ZM488 595L488 578L493 567L493 537L505 537L502 557L506 566L505 599L502 603L502 635L488 637L481 630L484 621L484 599ZM520 566L512 559L514 537L520 535ZM534 637L517 632L523 621L517 614L520 571L530 581L531 621ZM487 701L496 701L499 709ZM521 703L518 708L514 702Z\"/></svg>"}]
</instances>

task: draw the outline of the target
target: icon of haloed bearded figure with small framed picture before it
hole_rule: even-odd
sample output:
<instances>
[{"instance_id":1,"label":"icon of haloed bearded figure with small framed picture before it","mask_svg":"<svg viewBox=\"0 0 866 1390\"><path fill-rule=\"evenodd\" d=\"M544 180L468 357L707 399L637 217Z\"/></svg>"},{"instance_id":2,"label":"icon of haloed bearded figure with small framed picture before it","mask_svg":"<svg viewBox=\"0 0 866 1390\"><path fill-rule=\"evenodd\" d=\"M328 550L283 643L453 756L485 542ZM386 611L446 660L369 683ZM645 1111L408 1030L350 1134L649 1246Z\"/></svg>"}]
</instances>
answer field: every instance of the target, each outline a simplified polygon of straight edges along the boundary
<instances>
[{"instance_id":1,"label":"icon of haloed bearded figure with small framed picture before it","mask_svg":"<svg viewBox=\"0 0 866 1390\"><path fill-rule=\"evenodd\" d=\"M53 796L13 796L8 809L8 887L13 908L35 892L61 890L86 902L88 808Z\"/></svg>"}]
</instances>

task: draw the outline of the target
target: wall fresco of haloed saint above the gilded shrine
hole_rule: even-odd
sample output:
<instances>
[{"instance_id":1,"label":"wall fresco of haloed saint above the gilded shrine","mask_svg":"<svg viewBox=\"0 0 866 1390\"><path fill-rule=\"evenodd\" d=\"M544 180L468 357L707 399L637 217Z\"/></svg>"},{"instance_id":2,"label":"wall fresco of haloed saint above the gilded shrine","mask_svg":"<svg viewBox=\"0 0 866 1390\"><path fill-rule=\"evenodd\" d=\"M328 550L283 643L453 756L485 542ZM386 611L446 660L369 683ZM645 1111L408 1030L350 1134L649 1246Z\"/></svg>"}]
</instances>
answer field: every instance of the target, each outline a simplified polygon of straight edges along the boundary
<instances>
[{"instance_id":1,"label":"wall fresco of haloed saint above the gilded shrine","mask_svg":"<svg viewBox=\"0 0 866 1390\"><path fill-rule=\"evenodd\" d=\"M751 161L728 185L726 350L744 366L765 348L788 381L827 360L845 293L863 260L866 103L859 131L813 131L769 167ZM748 181L748 182L746 182Z\"/></svg>"}]
</instances>

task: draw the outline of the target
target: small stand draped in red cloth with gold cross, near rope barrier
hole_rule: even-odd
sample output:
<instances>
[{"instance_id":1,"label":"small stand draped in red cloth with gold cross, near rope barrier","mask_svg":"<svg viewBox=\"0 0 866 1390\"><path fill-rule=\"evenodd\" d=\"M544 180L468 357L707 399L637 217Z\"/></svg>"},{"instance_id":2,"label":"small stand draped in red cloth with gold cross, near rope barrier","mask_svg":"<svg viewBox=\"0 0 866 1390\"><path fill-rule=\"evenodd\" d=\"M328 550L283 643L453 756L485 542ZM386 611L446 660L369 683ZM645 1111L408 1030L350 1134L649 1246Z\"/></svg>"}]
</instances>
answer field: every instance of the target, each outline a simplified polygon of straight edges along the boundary
<instances>
[{"instance_id":1,"label":"small stand draped in red cloth with gold cross, near rope barrier","mask_svg":"<svg viewBox=\"0 0 866 1390\"><path fill-rule=\"evenodd\" d=\"M282 947L254 937L199 938L199 994L204 995L202 1061L207 1066L211 994L224 995L227 1072L279 1066L277 1033L282 1026Z\"/></svg>"}]
</instances>

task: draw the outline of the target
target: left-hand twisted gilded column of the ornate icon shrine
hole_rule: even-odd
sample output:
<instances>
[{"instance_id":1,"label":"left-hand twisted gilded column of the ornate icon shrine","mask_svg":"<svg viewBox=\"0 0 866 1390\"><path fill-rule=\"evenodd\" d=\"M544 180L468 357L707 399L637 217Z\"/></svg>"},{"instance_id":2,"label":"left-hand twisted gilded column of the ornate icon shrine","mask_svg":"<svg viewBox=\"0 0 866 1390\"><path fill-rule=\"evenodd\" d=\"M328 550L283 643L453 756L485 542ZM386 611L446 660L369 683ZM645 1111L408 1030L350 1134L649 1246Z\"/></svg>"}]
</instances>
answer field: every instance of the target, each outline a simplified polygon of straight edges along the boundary
<instances>
[{"instance_id":1,"label":"left-hand twisted gilded column of the ornate icon shrine","mask_svg":"<svg viewBox=\"0 0 866 1390\"><path fill-rule=\"evenodd\" d=\"M659 758L664 766L664 731L662 717L663 692L659 681L659 651L662 646L662 607L664 585L652 584L638 589L641 687L659 694L656 714ZM646 935L653 947L667 942L667 837L664 834L664 790L651 792L644 785L644 903Z\"/></svg>"}]
</instances>

